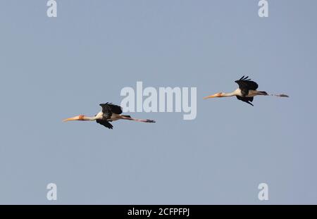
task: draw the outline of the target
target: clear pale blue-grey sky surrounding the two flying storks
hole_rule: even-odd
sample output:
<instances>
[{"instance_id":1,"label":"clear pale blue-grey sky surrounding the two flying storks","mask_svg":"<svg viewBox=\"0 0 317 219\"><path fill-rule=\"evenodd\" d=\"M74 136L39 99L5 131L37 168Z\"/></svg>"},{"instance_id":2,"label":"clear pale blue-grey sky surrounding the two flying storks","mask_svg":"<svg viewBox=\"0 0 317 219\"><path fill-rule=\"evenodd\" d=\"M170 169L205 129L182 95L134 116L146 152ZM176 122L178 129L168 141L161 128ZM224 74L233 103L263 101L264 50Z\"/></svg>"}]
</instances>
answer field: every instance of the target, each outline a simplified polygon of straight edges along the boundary
<instances>
[{"instance_id":1,"label":"clear pale blue-grey sky surrounding the two flying storks","mask_svg":"<svg viewBox=\"0 0 317 219\"><path fill-rule=\"evenodd\" d=\"M46 8L0 1L0 204L317 204L317 1L269 1L268 18L257 0ZM290 99L202 99L242 75ZM197 119L62 123L137 81L197 87Z\"/></svg>"}]
</instances>

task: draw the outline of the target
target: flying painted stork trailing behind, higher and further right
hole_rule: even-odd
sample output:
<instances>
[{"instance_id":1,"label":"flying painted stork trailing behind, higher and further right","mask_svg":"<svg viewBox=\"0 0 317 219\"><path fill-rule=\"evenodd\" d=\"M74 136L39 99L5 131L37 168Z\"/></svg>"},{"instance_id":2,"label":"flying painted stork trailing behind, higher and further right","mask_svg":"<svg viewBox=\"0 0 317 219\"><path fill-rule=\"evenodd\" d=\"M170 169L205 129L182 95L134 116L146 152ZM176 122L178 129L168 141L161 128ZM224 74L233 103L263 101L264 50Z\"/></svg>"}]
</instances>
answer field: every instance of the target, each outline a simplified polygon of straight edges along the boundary
<instances>
[{"instance_id":1,"label":"flying painted stork trailing behind, higher and further right","mask_svg":"<svg viewBox=\"0 0 317 219\"><path fill-rule=\"evenodd\" d=\"M249 77L249 76L248 76ZM256 82L251 81L248 77L241 77L240 80L236 80L235 82L239 85L239 88L236 89L234 92L231 93L217 93L211 96L206 96L204 99L214 98L214 97L226 97L226 96L237 96L237 99L240 101L244 101L251 106L254 96L263 95L263 96L280 96L280 97L288 97L285 94L268 94L266 92L259 92L258 89L259 85Z\"/></svg>"}]
</instances>

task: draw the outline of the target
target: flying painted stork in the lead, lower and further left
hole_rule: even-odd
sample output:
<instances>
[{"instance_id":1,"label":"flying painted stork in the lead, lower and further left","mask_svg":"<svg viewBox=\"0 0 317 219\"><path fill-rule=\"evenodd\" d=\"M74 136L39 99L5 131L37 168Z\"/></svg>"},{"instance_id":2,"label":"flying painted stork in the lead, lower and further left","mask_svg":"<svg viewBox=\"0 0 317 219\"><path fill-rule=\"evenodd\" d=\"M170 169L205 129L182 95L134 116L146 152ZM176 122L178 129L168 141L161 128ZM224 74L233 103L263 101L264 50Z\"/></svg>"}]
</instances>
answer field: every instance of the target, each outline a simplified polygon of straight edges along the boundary
<instances>
[{"instance_id":1,"label":"flying painted stork in the lead, lower and further left","mask_svg":"<svg viewBox=\"0 0 317 219\"><path fill-rule=\"evenodd\" d=\"M138 118L131 118L130 115L121 115L122 108L120 106L106 103L106 104L99 104L102 107L102 111L97 113L97 115L93 117L89 117L86 115L77 115L73 118L67 118L63 120L63 122L73 121L73 120L80 120L80 121L96 121L100 125L104 125L112 130L113 126L109 122L113 122L116 120L132 120L142 123L155 123L154 120L143 120Z\"/></svg>"}]
</instances>

